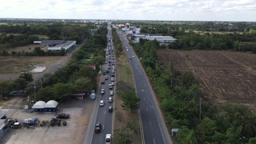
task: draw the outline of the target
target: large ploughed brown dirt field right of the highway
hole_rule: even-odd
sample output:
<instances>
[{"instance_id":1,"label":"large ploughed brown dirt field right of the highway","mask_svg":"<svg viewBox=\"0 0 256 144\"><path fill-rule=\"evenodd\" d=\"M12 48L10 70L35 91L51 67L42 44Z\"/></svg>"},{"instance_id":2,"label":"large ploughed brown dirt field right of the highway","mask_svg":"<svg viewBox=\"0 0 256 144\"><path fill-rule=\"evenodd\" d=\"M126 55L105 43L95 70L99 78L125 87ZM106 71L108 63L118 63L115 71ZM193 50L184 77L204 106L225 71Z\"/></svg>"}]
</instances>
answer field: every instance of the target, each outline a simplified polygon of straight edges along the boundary
<instances>
[{"instance_id":1,"label":"large ploughed brown dirt field right of the highway","mask_svg":"<svg viewBox=\"0 0 256 144\"><path fill-rule=\"evenodd\" d=\"M241 102L256 112L256 55L229 51L158 50L168 66L192 71L208 101Z\"/></svg>"}]
</instances>

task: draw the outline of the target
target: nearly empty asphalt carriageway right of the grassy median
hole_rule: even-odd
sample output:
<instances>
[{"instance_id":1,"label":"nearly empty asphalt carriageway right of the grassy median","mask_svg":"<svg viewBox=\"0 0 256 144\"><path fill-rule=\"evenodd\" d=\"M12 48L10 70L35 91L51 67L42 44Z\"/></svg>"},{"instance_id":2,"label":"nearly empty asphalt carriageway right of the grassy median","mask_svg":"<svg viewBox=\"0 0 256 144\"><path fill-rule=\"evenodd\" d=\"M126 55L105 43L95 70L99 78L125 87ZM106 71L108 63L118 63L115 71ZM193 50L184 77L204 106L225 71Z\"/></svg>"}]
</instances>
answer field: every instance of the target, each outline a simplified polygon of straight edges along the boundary
<instances>
[{"instance_id":1,"label":"nearly empty asphalt carriageway right of the grassy median","mask_svg":"<svg viewBox=\"0 0 256 144\"><path fill-rule=\"evenodd\" d=\"M128 44L126 38L117 32L122 41L128 62L132 68L137 95L141 98L140 116L143 127L144 144L172 144L170 135L164 123L161 111L156 102L155 96L147 80L146 74L139 62L139 59ZM128 48L128 52L127 49ZM133 58L133 56L135 58ZM129 59L131 57L131 59Z\"/></svg>"}]
</instances>

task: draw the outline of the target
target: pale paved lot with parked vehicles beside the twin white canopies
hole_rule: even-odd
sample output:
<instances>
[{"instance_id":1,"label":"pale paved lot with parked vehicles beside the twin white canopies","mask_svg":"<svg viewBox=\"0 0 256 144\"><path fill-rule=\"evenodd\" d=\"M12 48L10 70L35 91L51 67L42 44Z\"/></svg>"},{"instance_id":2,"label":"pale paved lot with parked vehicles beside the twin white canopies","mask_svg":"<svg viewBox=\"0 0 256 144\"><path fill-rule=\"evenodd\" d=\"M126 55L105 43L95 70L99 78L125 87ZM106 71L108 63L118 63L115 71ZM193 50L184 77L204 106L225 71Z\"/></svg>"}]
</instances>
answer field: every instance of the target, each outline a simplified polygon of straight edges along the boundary
<instances>
[{"instance_id":1,"label":"pale paved lot with parked vehicles beside the twin white canopies","mask_svg":"<svg viewBox=\"0 0 256 144\"><path fill-rule=\"evenodd\" d=\"M9 129L1 138L0 144L80 144L83 143L87 125L95 101L86 96L83 100L72 100L59 104L57 113L27 113L18 110L11 118L17 118L19 122L30 117L39 120L50 120L52 116L60 113L70 114L69 119L62 119L67 126L42 126L22 127L21 129Z\"/></svg>"}]
</instances>

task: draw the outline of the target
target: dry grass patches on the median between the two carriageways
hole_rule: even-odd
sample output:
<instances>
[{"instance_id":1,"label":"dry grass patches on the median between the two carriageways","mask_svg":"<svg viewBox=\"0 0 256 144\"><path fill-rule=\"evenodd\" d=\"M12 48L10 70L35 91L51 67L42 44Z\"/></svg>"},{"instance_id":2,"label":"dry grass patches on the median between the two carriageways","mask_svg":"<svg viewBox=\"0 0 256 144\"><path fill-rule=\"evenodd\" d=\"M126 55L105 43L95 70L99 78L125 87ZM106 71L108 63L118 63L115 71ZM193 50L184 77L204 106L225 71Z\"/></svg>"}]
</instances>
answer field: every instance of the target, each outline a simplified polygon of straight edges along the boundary
<instances>
[{"instance_id":1,"label":"dry grass patches on the median between the two carriageways","mask_svg":"<svg viewBox=\"0 0 256 144\"><path fill-rule=\"evenodd\" d=\"M128 85L132 86L134 88L134 82L132 78L131 68L127 64L127 56L123 54L117 59L117 70L118 70L118 76L117 80L124 80L127 82ZM131 113L130 111L122 110L121 104L123 104L123 101L120 96L116 95L116 108L115 111L120 110L122 111L122 120L119 121L115 118L115 128L122 128L125 127L128 119L130 117L139 119L138 112L135 111ZM141 134L138 132L137 134L132 134L132 144L141 144Z\"/></svg>"}]
</instances>

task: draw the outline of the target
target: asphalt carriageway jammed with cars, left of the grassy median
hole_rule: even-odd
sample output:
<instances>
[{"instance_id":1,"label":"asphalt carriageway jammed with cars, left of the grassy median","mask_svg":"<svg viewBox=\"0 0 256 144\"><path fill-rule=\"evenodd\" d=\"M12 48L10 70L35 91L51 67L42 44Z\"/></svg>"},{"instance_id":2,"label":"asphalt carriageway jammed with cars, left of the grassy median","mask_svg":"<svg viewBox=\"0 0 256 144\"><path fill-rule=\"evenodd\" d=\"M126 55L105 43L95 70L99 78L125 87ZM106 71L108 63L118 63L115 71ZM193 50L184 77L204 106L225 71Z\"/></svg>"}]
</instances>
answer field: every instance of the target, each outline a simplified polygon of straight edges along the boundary
<instances>
[{"instance_id":1,"label":"asphalt carriageway jammed with cars, left of the grassy median","mask_svg":"<svg viewBox=\"0 0 256 144\"><path fill-rule=\"evenodd\" d=\"M111 29L110 29L111 30ZM111 35L111 31L108 32ZM112 46L110 46L110 49L112 49ZM111 52L110 52L111 53ZM113 126L113 114L114 114L114 108L112 112L109 112L109 106L113 106L115 102L115 85L113 85L113 88L109 88L109 84L112 83L111 81L111 74L112 74L112 61L113 57L112 53L111 55L106 55L107 57L111 56L111 58L107 58L107 61L111 61L110 69L108 69L108 63L103 65L102 72L109 70L109 73L106 73L106 75L102 75L101 80L105 79L105 76L108 77L108 80L105 80L104 84L100 85L100 90L104 89L105 93L100 94L100 91L96 93L96 104L94 106L94 110L92 111L92 115L90 118L90 122L88 123L88 128L85 135L84 144L104 144L105 143L105 137L106 134L112 135L112 126ZM115 59L114 59L115 61ZM114 77L115 78L115 77ZM116 80L114 81L116 83ZM114 95L110 95L110 91L114 92ZM108 102L109 97L112 97L113 102ZM104 100L104 106L100 106L100 101ZM101 131L95 132L95 124L97 122L101 123Z\"/></svg>"}]
</instances>

